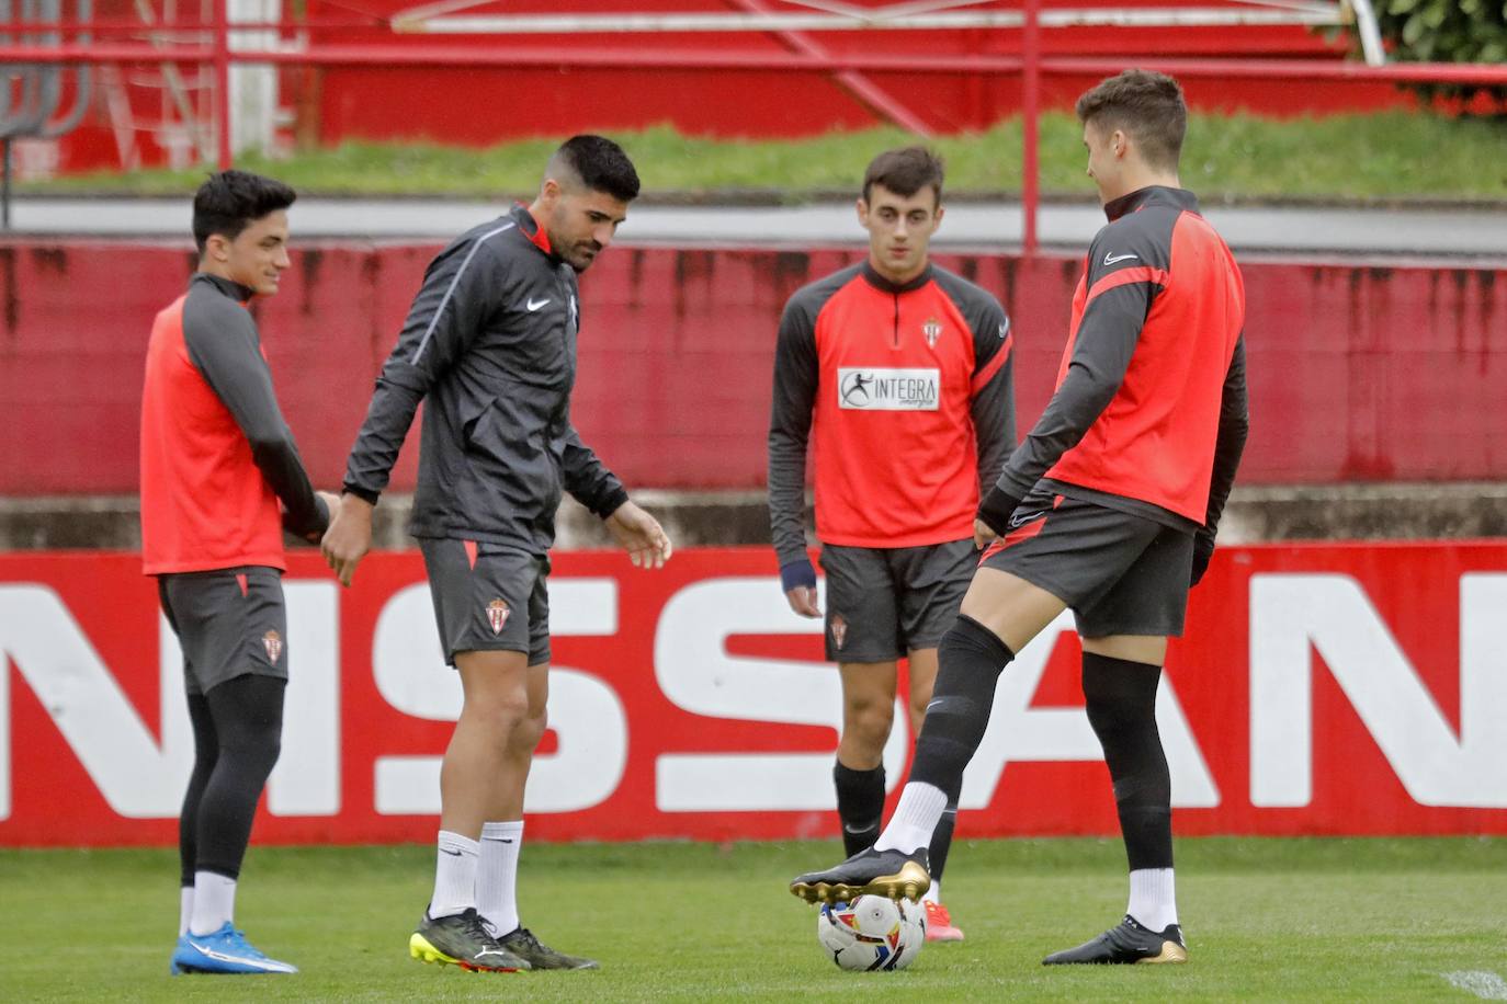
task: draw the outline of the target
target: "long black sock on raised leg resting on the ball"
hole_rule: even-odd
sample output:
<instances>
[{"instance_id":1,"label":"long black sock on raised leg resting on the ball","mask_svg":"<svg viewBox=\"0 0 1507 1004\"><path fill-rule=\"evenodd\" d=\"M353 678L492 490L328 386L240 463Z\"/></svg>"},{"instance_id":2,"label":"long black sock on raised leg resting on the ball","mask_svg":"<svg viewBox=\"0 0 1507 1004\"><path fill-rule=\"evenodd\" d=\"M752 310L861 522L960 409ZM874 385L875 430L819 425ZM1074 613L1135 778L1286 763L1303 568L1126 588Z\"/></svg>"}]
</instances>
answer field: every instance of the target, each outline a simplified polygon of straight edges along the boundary
<instances>
[{"instance_id":1,"label":"long black sock on raised leg resting on the ball","mask_svg":"<svg viewBox=\"0 0 1507 1004\"><path fill-rule=\"evenodd\" d=\"M910 780L946 792L957 805L963 768L974 759L995 709L999 673L1016 658L993 631L958 614L937 646L937 682L916 739Z\"/></svg>"}]
</instances>

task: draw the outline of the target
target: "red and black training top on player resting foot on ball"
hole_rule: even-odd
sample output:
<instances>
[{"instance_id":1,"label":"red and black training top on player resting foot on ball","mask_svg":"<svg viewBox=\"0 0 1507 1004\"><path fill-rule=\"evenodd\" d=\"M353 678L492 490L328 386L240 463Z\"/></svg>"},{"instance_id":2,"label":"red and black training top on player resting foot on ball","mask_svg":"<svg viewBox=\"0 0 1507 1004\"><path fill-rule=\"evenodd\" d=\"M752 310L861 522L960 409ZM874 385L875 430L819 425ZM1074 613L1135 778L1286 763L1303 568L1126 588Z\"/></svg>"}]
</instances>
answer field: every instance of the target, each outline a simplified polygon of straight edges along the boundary
<instances>
[{"instance_id":1,"label":"red and black training top on player resting foot on ball","mask_svg":"<svg viewBox=\"0 0 1507 1004\"><path fill-rule=\"evenodd\" d=\"M1245 283L1181 188L1105 206L1073 295L1056 393L1005 464L1020 498L1070 498L1212 534L1248 427Z\"/></svg>"}]
</instances>

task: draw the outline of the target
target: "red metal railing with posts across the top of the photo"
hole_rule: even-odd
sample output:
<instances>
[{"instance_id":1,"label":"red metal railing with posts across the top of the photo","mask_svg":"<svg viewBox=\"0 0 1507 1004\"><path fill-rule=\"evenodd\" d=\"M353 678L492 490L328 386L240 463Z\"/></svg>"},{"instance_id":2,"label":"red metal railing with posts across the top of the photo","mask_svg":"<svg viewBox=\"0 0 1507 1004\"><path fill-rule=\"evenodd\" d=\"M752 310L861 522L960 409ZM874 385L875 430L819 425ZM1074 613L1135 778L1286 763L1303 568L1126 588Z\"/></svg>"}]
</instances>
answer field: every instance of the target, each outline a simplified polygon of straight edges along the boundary
<instances>
[{"instance_id":1,"label":"red metal railing with posts across the top of the photo","mask_svg":"<svg viewBox=\"0 0 1507 1004\"><path fill-rule=\"evenodd\" d=\"M11 11L12 0L0 0L0 14ZM23 5L60 5L62 0L20 0ZM806 0L790 0L806 3ZM1358 15L1368 15L1367 0L1349 0ZM77 0L86 12L89 0ZM738 0L743 14L719 15L656 15L647 21L634 15L613 15L610 21L589 20L597 15L512 15L488 18L485 23L455 17L454 12L475 6L475 0L457 0L445 5L429 5L407 11L392 18L316 18L310 21L235 23L226 17L225 2L214 3L214 18L209 24L158 24L151 29L140 21L90 21L83 14L74 23L60 20L36 23L35 6L24 8L20 21L0 24L0 66L59 68L98 66L125 63L157 63L164 66L206 65L214 78L214 134L216 152L222 167L234 163L231 149L229 74L232 65L292 65L292 66L405 66L405 68L580 68L580 69L698 69L717 71L769 71L769 72L818 72L832 75L841 86L860 96L870 107L877 107L886 117L924 134L924 125L907 114L898 102L886 107L885 92L868 86L864 74L946 74L1022 78L1022 211L1023 251L1037 251L1037 211L1040 203L1038 181L1038 119L1040 81L1046 75L1111 75L1132 62L1103 56L1047 56L1043 54L1044 30L1070 29L1084 24L1317 24L1322 18L1337 17L1337 3L1304 3L1252 0L1249 11L1216 9L1044 9L1041 0L1022 0L1019 11L958 11L955 8L978 6L978 0L919 0L918 3L892 5L874 9L868 17L851 14L800 14L776 15L764 0ZM815 6L809 3L808 6ZM954 9L949 9L954 8ZM1263 9L1257 9L1263 8ZM1269 9L1267 9L1269 8ZM50 8L53 9L53 8ZM827 9L823 6L823 9ZM883 17L880 17L883 15ZM1206 18L1198 21L1195 15ZM692 20L687 20L692 18ZM701 20L695 20L701 18ZM719 18L707 21L705 18ZM812 21L811 18L818 18ZM957 27L963 18L986 18L990 26L1020 29L1020 54L886 54L886 53L832 53L806 35L811 27L821 30L907 27L930 30L931 27ZM684 23L683 23L684 21ZM612 26L618 26L613 29ZM714 24L716 27L707 27ZM637 48L559 45L488 45L457 47L446 42L324 42L313 35L341 29L392 29L395 32L449 35L466 27L467 32L496 35L540 35L591 30L657 30L657 32L770 32L781 36L793 51L738 51L728 48L675 48L642 51ZM1374 29L1374 20L1371 21ZM29 33L30 32L30 33ZM36 38L38 32L45 39ZM232 48L231 36L240 32L273 32L282 41L271 47ZM112 41L96 42L93 36L112 36ZM128 35L127 41L113 41ZM146 35L148 41L139 41ZM62 41L63 38L69 41ZM14 41L21 38L21 41ZM1364 36L1362 36L1364 41ZM1379 36L1374 38L1379 45ZM1367 44L1371 56L1371 44ZM1136 56L1133 65L1160 69L1175 77L1218 77L1236 80L1293 80L1293 81L1388 81L1388 83L1447 83L1507 86L1507 65L1499 63L1383 63L1353 62L1344 59L1213 59L1213 57L1156 57ZM865 89L867 87L867 89Z\"/></svg>"}]
</instances>

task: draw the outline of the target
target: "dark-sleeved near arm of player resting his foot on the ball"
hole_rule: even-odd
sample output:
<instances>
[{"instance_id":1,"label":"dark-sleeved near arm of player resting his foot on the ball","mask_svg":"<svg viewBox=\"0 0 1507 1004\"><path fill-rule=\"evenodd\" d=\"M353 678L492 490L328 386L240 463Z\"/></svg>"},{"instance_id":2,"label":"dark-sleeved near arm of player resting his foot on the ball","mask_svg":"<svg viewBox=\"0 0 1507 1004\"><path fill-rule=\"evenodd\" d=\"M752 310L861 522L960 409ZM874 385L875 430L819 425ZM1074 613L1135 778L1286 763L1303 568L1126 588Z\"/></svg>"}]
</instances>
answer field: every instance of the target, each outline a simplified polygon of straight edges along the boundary
<instances>
[{"instance_id":1,"label":"dark-sleeved near arm of player resting his foot on the ball","mask_svg":"<svg viewBox=\"0 0 1507 1004\"><path fill-rule=\"evenodd\" d=\"M1091 250L1090 262L1097 260L1096 250ZM1090 268L1088 303L1067 373L980 506L980 518L996 533L1007 528L1010 513L1052 465L1078 446L1124 381L1151 300L1162 288L1150 278L1115 284L1115 271L1121 269Z\"/></svg>"}]
</instances>

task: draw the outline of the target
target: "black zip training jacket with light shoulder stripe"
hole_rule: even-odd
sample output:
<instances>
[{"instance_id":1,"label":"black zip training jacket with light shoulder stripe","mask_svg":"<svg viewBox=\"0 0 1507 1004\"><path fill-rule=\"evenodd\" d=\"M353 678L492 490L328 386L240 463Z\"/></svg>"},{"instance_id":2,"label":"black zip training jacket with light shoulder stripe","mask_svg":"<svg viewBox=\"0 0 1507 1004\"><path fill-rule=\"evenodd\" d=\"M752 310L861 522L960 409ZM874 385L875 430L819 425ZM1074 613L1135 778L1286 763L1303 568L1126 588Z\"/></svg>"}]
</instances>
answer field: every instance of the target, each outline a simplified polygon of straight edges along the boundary
<instances>
[{"instance_id":1,"label":"black zip training jacket with light shoulder stripe","mask_svg":"<svg viewBox=\"0 0 1507 1004\"><path fill-rule=\"evenodd\" d=\"M627 492L570 420L577 294L524 206L440 251L377 378L345 489L377 500L425 400L413 536L541 554L562 491L610 515Z\"/></svg>"}]
</instances>

